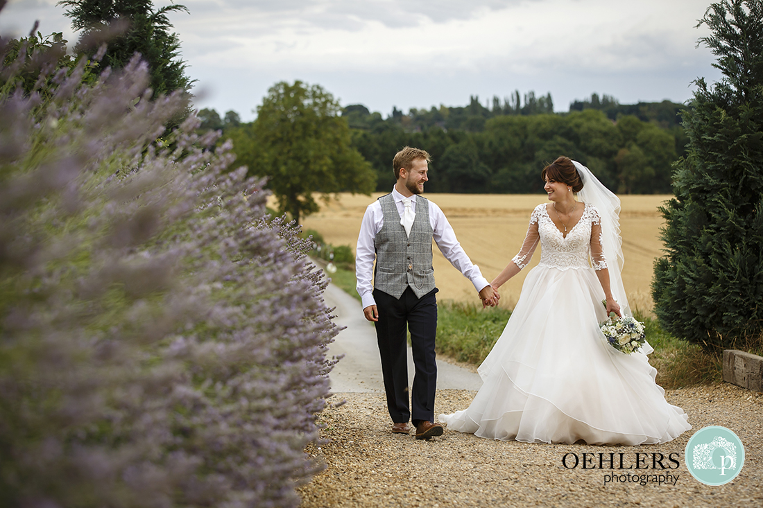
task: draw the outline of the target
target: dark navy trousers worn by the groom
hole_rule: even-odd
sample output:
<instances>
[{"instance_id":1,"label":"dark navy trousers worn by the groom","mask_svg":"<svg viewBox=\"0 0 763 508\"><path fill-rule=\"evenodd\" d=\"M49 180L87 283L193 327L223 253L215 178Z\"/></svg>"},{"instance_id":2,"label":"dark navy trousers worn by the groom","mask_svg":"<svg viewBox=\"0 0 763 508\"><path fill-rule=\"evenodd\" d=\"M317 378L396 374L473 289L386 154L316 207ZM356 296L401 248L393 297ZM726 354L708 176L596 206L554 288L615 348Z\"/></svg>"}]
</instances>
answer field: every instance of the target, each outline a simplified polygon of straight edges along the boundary
<instances>
[{"instance_id":1,"label":"dark navy trousers worn by the groom","mask_svg":"<svg viewBox=\"0 0 763 508\"><path fill-rule=\"evenodd\" d=\"M374 290L378 309L376 339L381 355L381 372L387 394L387 408L394 423L411 419L434 421L434 397L437 385L435 335L437 331L437 289L418 298L407 288L400 298ZM407 333L414 353L413 391L408 402ZM411 413L411 409L413 412Z\"/></svg>"}]
</instances>

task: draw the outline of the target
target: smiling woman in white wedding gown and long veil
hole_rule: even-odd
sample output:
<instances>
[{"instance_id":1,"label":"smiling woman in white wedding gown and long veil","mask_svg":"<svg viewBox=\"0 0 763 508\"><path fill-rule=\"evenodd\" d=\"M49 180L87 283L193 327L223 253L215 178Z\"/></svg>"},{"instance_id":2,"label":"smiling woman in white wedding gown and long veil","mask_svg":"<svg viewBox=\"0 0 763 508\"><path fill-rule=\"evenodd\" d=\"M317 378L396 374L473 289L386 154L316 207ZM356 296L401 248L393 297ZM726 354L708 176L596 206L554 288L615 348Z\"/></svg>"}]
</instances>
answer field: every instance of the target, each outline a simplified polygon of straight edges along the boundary
<instances>
[{"instance_id":1,"label":"smiling woman in white wedding gown and long veil","mask_svg":"<svg viewBox=\"0 0 763 508\"><path fill-rule=\"evenodd\" d=\"M538 242L539 265L527 275L504 332L478 369L483 384L472 404L439 420L488 439L670 441L691 426L655 384L657 371L646 357L652 347L646 342L626 355L609 346L599 328L610 312L630 314L620 278L620 199L567 157L541 176L551 203L533 210L522 249L492 285L517 275Z\"/></svg>"}]
</instances>

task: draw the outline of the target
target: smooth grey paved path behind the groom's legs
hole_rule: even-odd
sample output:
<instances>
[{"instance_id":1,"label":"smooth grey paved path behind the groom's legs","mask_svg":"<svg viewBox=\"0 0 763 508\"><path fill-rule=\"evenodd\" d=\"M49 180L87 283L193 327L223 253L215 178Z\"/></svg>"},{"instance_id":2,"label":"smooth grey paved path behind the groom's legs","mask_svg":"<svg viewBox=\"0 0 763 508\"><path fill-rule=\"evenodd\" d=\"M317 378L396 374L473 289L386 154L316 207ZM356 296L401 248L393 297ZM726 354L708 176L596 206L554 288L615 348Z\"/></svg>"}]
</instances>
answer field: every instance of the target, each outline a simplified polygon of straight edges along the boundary
<instances>
[{"instance_id":1,"label":"smooth grey paved path behind the groom's legs","mask_svg":"<svg viewBox=\"0 0 763 508\"><path fill-rule=\"evenodd\" d=\"M340 288L330 284L324 293L329 307L336 307L334 323L346 326L330 345L329 356L345 355L334 365L330 374L331 391L384 392L381 378L381 361L376 345L376 331L373 323L365 320L360 302ZM408 348L408 382L413 384L414 359ZM472 371L437 360L438 390L478 390L482 385L480 377Z\"/></svg>"}]
</instances>

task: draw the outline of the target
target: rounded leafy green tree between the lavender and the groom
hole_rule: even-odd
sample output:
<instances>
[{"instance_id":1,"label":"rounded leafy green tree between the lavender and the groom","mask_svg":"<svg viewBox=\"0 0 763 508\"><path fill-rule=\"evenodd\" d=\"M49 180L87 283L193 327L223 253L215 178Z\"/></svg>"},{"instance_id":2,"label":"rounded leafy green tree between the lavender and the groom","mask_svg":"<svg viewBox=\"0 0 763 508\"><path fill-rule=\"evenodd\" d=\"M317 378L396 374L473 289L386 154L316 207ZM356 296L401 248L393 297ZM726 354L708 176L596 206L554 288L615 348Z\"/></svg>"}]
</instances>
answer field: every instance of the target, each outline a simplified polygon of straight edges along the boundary
<instances>
[{"instance_id":1,"label":"rounded leafy green tree between the lavender and the groom","mask_svg":"<svg viewBox=\"0 0 763 508\"><path fill-rule=\"evenodd\" d=\"M375 175L351 146L340 105L319 85L276 83L252 124L226 130L238 162L269 177L281 211L300 218L318 210L314 192L369 194Z\"/></svg>"}]
</instances>

